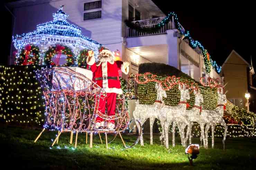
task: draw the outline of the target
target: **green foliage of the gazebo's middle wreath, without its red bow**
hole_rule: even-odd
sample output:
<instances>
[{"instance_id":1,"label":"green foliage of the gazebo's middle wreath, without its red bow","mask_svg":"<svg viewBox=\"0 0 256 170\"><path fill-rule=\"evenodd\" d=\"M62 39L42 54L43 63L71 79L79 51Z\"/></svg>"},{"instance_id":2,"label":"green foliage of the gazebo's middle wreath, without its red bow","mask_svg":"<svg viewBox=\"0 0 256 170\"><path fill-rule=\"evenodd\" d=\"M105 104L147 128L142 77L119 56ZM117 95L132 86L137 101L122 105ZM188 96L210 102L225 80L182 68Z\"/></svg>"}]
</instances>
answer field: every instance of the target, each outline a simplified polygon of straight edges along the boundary
<instances>
[{"instance_id":1,"label":"green foliage of the gazebo's middle wreath, without its red bow","mask_svg":"<svg viewBox=\"0 0 256 170\"><path fill-rule=\"evenodd\" d=\"M71 48L67 46L63 46L62 54L67 56L66 63L63 66L74 66L74 62L76 60L74 53ZM56 47L50 46L49 49L45 52L44 62L47 66L56 66L56 64L52 61L52 58L57 54Z\"/></svg>"}]
</instances>

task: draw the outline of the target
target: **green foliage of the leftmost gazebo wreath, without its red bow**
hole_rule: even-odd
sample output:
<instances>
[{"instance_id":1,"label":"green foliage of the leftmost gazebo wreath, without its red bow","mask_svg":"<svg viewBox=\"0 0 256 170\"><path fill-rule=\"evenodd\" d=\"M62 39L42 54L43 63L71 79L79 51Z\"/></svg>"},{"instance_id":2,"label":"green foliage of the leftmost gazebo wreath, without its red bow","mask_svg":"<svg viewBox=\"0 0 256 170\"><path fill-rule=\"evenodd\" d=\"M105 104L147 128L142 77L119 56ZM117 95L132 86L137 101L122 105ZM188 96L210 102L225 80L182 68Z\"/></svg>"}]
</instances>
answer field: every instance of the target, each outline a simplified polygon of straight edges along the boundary
<instances>
[{"instance_id":1,"label":"green foliage of the leftmost gazebo wreath, without its red bow","mask_svg":"<svg viewBox=\"0 0 256 170\"><path fill-rule=\"evenodd\" d=\"M39 47L34 44L29 44L31 46L31 50L28 55L28 65L38 65L39 63ZM22 65L26 58L26 50L25 47L22 48L19 57L16 56L16 65Z\"/></svg>"}]
</instances>

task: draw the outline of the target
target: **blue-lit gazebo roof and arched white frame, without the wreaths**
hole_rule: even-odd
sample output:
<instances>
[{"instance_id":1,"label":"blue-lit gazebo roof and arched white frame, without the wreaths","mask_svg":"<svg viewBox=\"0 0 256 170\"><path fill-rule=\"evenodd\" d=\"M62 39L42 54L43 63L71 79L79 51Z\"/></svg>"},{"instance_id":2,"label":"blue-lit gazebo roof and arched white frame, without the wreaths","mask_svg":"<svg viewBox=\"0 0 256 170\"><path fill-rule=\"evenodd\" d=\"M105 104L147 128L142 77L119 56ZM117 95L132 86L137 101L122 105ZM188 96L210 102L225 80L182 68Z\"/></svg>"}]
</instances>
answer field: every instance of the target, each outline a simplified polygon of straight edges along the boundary
<instances>
[{"instance_id":1,"label":"blue-lit gazebo roof and arched white frame, without the wreaths","mask_svg":"<svg viewBox=\"0 0 256 170\"><path fill-rule=\"evenodd\" d=\"M80 50L94 50L95 56L98 55L98 48L102 44L93 41L81 34L81 29L67 21L68 15L63 11L61 6L56 13L53 13L53 20L38 24L36 30L29 33L23 33L13 37L13 43L17 49L17 57L21 50L28 44L34 44L40 50L40 64L43 63L44 52L49 46L55 44L64 44L72 49L72 52L77 56Z\"/></svg>"}]
</instances>

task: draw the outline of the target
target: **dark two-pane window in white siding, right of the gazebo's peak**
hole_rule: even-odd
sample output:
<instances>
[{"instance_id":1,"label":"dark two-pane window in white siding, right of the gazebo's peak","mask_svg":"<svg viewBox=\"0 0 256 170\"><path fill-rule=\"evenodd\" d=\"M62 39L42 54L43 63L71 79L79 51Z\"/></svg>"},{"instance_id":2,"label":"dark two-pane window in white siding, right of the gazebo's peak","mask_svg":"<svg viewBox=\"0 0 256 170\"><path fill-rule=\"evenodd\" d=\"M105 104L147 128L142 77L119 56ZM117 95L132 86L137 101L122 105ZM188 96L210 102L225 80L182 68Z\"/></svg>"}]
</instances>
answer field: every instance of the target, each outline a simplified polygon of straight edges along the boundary
<instances>
[{"instance_id":1,"label":"dark two-pane window in white siding, right of the gazebo's peak","mask_svg":"<svg viewBox=\"0 0 256 170\"><path fill-rule=\"evenodd\" d=\"M84 3L83 20L102 18L102 0Z\"/></svg>"}]
</instances>

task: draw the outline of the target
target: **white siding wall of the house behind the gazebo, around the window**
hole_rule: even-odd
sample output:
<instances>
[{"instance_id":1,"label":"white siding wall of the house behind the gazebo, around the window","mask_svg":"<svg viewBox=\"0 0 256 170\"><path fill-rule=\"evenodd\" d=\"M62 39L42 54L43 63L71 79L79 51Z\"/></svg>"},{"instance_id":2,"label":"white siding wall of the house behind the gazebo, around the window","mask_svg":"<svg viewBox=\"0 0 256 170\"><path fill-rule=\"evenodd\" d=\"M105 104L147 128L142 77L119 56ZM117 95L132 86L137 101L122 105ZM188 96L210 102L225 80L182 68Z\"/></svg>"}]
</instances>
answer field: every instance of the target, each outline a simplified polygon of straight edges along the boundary
<instances>
[{"instance_id":1,"label":"white siding wall of the house behind the gazebo, around the window","mask_svg":"<svg viewBox=\"0 0 256 170\"><path fill-rule=\"evenodd\" d=\"M82 34L102 44L121 42L122 1L102 0L102 18L83 21L83 7L88 0L62 0L15 9L15 35L34 31L36 25L53 20L52 14L65 5L68 22L82 29Z\"/></svg>"}]
</instances>

